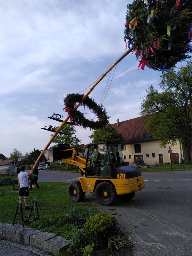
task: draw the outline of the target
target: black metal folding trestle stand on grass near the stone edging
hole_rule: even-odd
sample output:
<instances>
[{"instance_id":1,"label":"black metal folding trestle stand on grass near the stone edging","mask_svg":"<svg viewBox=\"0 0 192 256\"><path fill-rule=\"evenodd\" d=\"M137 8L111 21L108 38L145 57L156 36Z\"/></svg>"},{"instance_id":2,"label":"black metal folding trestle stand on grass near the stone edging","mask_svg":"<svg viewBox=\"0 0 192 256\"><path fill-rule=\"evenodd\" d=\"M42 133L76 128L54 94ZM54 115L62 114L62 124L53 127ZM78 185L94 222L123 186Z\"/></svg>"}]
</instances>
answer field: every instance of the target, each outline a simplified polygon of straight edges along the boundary
<instances>
[{"instance_id":1,"label":"black metal folding trestle stand on grass near the stone edging","mask_svg":"<svg viewBox=\"0 0 192 256\"><path fill-rule=\"evenodd\" d=\"M19 203L18 203L18 206L17 206L17 211L15 213L15 218L13 220L13 225L14 225L15 221L18 220L18 226L20 226L20 220L22 219L23 228L25 228L25 226L24 226L25 222L33 221L33 220L39 220L39 212L38 212L36 197L37 196L28 197L28 198L33 198L33 204L24 205L24 206L22 206L21 200L26 199L26 198L19 198ZM29 206L32 206L29 216L23 217L23 208L29 207ZM33 219L31 219L32 212L33 212ZM37 217L35 217L35 215L36 215L35 213L37 213ZM17 214L18 214L18 218L16 219ZM28 220L24 220L24 219L27 219L27 218L28 218Z\"/></svg>"}]
</instances>

